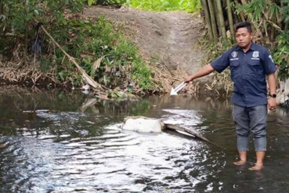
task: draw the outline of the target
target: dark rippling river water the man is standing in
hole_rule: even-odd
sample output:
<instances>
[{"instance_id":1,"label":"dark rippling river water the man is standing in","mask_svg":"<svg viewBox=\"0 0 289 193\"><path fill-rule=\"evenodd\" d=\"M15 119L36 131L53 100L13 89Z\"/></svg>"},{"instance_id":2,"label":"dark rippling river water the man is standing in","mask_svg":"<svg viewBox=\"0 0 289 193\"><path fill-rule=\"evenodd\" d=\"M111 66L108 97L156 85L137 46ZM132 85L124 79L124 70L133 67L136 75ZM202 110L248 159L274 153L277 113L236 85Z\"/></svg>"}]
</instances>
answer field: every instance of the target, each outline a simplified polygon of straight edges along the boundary
<instances>
[{"instance_id":1,"label":"dark rippling river water the man is standing in","mask_svg":"<svg viewBox=\"0 0 289 193\"><path fill-rule=\"evenodd\" d=\"M265 169L237 159L227 100L154 96L138 102L82 93L0 94L0 192L289 192L289 113L268 116ZM91 106L89 106L89 104ZM194 128L222 146L177 133L119 128L127 115Z\"/></svg>"}]
</instances>

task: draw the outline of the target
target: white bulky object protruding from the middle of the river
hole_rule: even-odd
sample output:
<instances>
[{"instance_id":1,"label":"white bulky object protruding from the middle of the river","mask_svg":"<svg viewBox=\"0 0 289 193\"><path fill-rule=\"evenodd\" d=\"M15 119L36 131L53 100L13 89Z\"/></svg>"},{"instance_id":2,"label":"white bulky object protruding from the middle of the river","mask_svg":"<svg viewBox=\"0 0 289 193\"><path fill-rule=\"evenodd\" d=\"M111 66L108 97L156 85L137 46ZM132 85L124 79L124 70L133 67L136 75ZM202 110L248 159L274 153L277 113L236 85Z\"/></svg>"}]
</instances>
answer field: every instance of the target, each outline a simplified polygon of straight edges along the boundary
<instances>
[{"instance_id":1,"label":"white bulky object protruding from the middle of the river","mask_svg":"<svg viewBox=\"0 0 289 193\"><path fill-rule=\"evenodd\" d=\"M129 117L125 119L121 128L137 132L162 132L164 124L159 120L147 119L145 117Z\"/></svg>"}]
</instances>

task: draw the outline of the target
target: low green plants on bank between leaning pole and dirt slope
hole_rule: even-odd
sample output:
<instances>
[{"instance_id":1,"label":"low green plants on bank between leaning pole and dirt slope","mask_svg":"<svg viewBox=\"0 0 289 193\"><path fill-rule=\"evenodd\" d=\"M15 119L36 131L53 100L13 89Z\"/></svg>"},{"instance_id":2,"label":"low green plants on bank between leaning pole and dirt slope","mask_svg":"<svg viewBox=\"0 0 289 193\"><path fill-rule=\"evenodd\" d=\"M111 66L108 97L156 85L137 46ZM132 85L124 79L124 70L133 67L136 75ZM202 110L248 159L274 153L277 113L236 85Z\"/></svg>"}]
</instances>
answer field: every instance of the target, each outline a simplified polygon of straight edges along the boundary
<instances>
[{"instance_id":1,"label":"low green plants on bank between leaning pole and dirt slope","mask_svg":"<svg viewBox=\"0 0 289 193\"><path fill-rule=\"evenodd\" d=\"M144 61L138 56L136 47L127 40L120 29L114 29L114 25L105 21L104 17L97 22L71 20L67 24L68 33L63 33L62 38L70 39L65 51L75 58L82 58L79 61L86 73L97 82L109 87L126 87L129 82L136 83L143 91L149 91L154 86L151 78L151 71ZM69 35L71 34L71 35ZM66 44L62 42L61 45ZM56 53L56 63L61 63L64 54ZM94 63L103 57L100 65L93 70ZM69 63L69 61L67 60ZM65 79L71 76L69 70L59 66L58 78ZM79 80L79 79L77 79ZM74 80L74 83L78 83Z\"/></svg>"}]
</instances>

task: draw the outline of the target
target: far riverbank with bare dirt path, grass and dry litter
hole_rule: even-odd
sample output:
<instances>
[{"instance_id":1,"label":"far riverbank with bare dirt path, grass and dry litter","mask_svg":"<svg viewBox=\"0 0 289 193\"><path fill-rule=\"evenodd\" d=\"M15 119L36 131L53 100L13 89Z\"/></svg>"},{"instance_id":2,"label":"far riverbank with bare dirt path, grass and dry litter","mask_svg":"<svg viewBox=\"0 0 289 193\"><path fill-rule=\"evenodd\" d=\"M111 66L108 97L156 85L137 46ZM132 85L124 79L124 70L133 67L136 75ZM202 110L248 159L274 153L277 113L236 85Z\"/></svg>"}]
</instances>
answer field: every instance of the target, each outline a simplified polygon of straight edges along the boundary
<instances>
[{"instance_id":1,"label":"far riverbank with bare dirt path, grass and dry litter","mask_svg":"<svg viewBox=\"0 0 289 193\"><path fill-rule=\"evenodd\" d=\"M103 89L97 92L108 98L121 96L111 94L117 92L169 93L187 75L232 46L226 42L210 43L201 16L186 12L92 6L85 8L83 14L67 10L65 21L66 25L44 27L88 76L102 85ZM12 49L10 60L1 56L0 82L46 89L81 89L87 84L47 34L41 29L40 34L45 38L42 54L24 56L19 44ZM194 81L181 92L229 96L229 70ZM280 104L288 101L284 92Z\"/></svg>"}]
</instances>

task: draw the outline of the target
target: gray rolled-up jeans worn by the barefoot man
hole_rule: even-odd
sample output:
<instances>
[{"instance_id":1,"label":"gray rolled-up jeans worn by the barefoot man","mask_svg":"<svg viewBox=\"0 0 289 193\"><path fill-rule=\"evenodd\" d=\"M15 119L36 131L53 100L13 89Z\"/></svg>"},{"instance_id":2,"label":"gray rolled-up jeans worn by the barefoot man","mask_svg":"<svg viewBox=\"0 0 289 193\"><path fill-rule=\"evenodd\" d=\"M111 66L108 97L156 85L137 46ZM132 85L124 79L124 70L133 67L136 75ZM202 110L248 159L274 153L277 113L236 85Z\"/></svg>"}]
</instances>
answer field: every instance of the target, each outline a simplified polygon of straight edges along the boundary
<instances>
[{"instance_id":1,"label":"gray rolled-up jeans worn by the barefoot man","mask_svg":"<svg viewBox=\"0 0 289 193\"><path fill-rule=\"evenodd\" d=\"M234 104L238 151L249 150L249 133L254 136L255 151L266 151L267 105L243 107Z\"/></svg>"}]
</instances>

